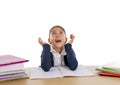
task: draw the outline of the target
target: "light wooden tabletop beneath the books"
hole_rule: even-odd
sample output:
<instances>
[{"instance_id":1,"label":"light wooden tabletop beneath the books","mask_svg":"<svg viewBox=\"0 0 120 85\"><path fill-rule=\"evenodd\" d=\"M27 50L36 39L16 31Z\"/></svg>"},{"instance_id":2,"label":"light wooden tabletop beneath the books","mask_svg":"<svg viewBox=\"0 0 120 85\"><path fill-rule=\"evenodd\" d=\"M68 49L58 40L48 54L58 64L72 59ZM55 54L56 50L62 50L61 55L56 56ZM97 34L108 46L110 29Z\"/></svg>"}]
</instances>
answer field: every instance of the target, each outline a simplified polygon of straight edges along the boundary
<instances>
[{"instance_id":1,"label":"light wooden tabletop beneath the books","mask_svg":"<svg viewBox=\"0 0 120 85\"><path fill-rule=\"evenodd\" d=\"M0 82L0 85L120 85L120 78L99 76L95 70L96 66L87 66L95 73L91 77L64 77L51 79L21 79L13 81Z\"/></svg>"}]
</instances>

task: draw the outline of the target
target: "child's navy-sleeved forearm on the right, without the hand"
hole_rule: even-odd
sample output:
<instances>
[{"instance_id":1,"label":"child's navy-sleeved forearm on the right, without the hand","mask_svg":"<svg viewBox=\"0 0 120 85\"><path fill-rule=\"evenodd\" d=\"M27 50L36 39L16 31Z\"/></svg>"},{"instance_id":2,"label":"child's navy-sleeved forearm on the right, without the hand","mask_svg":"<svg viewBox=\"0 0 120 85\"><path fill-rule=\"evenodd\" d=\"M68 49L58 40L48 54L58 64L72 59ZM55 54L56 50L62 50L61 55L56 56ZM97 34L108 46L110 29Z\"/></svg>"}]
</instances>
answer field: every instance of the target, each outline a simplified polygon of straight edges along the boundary
<instances>
[{"instance_id":1,"label":"child's navy-sleeved forearm on the right, without the hand","mask_svg":"<svg viewBox=\"0 0 120 85\"><path fill-rule=\"evenodd\" d=\"M68 67L71 70L75 70L78 66L78 61L76 59L75 52L72 49L72 45L71 44L66 44L65 45L65 50L66 50L66 53L67 53Z\"/></svg>"}]
</instances>

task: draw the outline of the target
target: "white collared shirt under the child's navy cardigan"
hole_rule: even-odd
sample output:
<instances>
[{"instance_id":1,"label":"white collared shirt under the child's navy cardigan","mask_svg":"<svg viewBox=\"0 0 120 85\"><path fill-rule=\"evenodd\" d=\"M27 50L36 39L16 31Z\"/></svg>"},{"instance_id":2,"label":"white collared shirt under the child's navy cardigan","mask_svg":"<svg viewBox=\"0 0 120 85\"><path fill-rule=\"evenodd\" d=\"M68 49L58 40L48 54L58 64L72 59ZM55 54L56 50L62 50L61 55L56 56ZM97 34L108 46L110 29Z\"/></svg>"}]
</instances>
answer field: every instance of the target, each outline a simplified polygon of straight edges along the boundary
<instances>
[{"instance_id":1,"label":"white collared shirt under the child's navy cardigan","mask_svg":"<svg viewBox=\"0 0 120 85\"><path fill-rule=\"evenodd\" d=\"M65 65L65 63L64 63L64 56L66 55L65 47L63 48L63 51L61 52L61 54L56 52L52 48L52 46L51 46L51 51L50 52L52 52L52 54L53 54L54 66L63 66L63 65Z\"/></svg>"}]
</instances>

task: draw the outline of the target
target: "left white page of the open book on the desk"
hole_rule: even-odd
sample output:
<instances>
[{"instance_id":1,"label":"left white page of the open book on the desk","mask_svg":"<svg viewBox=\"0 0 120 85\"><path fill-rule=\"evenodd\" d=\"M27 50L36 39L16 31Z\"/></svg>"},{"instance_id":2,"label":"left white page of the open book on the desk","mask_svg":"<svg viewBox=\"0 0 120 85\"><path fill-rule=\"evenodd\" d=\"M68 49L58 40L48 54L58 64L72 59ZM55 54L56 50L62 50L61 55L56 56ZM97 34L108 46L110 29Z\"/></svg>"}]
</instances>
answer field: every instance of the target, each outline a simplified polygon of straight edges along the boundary
<instances>
[{"instance_id":1,"label":"left white page of the open book on the desk","mask_svg":"<svg viewBox=\"0 0 120 85\"><path fill-rule=\"evenodd\" d=\"M50 71L45 72L42 68L32 68L30 72L30 79L37 78L56 78L62 77L57 67L52 67Z\"/></svg>"}]
</instances>

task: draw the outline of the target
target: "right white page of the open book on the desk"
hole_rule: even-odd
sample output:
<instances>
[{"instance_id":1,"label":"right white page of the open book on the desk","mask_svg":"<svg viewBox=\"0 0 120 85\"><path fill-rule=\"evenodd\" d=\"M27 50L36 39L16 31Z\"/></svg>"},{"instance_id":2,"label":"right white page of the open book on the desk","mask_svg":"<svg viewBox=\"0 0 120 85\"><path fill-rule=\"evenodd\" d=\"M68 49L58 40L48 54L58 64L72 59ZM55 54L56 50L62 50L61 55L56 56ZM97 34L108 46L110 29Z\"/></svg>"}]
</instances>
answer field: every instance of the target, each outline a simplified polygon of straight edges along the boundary
<instances>
[{"instance_id":1,"label":"right white page of the open book on the desk","mask_svg":"<svg viewBox=\"0 0 120 85\"><path fill-rule=\"evenodd\" d=\"M59 70L63 76L93 76L85 66L79 65L74 71L70 70L67 66L59 66Z\"/></svg>"}]
</instances>

